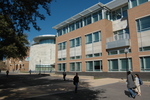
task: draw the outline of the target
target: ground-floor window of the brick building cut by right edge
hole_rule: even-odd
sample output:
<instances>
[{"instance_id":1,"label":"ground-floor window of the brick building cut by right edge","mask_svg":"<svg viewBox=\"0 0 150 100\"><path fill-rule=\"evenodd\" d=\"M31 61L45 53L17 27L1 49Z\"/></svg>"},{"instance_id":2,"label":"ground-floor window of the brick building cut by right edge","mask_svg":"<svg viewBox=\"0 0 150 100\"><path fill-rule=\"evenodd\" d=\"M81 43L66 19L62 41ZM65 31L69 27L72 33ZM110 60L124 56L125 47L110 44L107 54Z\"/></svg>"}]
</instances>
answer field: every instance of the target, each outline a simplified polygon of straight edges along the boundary
<instances>
[{"instance_id":1,"label":"ground-floor window of the brick building cut by right edge","mask_svg":"<svg viewBox=\"0 0 150 100\"><path fill-rule=\"evenodd\" d=\"M141 71L150 71L150 57L140 57Z\"/></svg>"}]
</instances>

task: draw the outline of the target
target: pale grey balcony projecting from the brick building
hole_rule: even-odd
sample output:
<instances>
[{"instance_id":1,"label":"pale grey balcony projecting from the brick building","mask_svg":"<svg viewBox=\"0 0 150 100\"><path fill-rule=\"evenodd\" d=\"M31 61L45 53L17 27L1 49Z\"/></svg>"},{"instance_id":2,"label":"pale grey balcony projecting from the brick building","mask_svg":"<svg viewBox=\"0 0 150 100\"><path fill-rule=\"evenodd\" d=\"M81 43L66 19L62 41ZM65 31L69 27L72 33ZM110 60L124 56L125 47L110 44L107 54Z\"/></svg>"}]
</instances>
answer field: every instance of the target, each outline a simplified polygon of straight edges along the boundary
<instances>
[{"instance_id":1,"label":"pale grey balcony projecting from the brick building","mask_svg":"<svg viewBox=\"0 0 150 100\"><path fill-rule=\"evenodd\" d=\"M113 49L113 48L119 48L119 47L126 47L130 46L130 37L129 34L123 33L123 34L117 34L113 37L107 38L106 43L106 49Z\"/></svg>"}]
</instances>

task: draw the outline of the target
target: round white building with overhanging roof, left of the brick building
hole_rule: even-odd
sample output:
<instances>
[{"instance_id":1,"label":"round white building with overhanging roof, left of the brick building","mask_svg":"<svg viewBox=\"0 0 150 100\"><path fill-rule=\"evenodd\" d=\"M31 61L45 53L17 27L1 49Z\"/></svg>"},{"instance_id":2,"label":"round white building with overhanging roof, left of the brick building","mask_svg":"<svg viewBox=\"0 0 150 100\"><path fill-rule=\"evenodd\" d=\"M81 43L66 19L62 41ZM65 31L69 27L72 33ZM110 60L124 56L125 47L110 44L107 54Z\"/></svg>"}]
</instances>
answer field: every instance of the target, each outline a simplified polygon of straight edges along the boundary
<instances>
[{"instance_id":1,"label":"round white building with overhanging roof, left of the brick building","mask_svg":"<svg viewBox=\"0 0 150 100\"><path fill-rule=\"evenodd\" d=\"M55 64L55 35L40 35L33 40L30 47L29 70L39 72L54 71Z\"/></svg>"}]
</instances>

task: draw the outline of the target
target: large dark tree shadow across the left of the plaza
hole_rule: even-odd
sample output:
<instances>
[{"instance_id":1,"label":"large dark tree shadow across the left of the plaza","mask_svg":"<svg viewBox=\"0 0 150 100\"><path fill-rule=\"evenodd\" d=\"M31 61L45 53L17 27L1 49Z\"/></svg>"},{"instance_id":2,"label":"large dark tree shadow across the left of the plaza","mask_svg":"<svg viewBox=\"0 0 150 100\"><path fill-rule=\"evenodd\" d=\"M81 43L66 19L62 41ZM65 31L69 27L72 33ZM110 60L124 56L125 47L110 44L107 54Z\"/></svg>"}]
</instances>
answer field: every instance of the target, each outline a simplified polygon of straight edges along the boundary
<instances>
[{"instance_id":1,"label":"large dark tree shadow across the left of the plaza","mask_svg":"<svg viewBox=\"0 0 150 100\"><path fill-rule=\"evenodd\" d=\"M0 76L0 99L2 100L96 100L105 90L90 90L88 83L80 82L74 93L72 80L63 81L49 75Z\"/></svg>"}]
</instances>

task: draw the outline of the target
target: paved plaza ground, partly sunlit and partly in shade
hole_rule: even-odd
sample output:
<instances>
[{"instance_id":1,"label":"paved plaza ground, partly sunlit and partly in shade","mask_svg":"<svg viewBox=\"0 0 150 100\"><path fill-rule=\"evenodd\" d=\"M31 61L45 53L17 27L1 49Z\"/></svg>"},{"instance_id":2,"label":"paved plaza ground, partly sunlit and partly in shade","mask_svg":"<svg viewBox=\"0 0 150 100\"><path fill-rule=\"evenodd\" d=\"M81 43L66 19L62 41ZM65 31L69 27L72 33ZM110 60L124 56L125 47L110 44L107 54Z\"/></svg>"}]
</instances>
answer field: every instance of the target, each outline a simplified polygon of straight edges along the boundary
<instances>
[{"instance_id":1,"label":"paved plaza ground, partly sunlit and partly in shade","mask_svg":"<svg viewBox=\"0 0 150 100\"><path fill-rule=\"evenodd\" d=\"M128 97L125 79L80 76L78 92L74 92L73 75L63 81L61 75L13 73L0 74L0 100L132 100ZM150 100L150 83L141 86L142 96Z\"/></svg>"}]
</instances>

